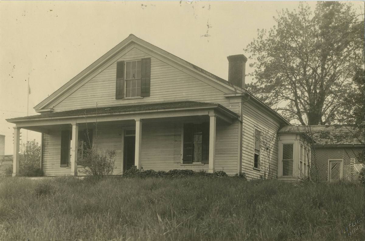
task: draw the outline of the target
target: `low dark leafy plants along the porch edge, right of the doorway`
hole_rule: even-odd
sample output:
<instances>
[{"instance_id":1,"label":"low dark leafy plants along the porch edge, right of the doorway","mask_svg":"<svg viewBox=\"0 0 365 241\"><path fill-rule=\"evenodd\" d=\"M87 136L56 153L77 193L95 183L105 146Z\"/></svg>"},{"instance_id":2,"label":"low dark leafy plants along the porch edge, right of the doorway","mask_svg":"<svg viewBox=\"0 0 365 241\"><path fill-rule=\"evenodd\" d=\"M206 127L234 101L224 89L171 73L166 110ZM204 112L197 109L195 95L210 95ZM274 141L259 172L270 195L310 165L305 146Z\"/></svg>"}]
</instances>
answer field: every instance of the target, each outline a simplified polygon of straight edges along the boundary
<instances>
[{"instance_id":1,"label":"low dark leafy plants along the porch edge, right of the doorway","mask_svg":"<svg viewBox=\"0 0 365 241\"><path fill-rule=\"evenodd\" d=\"M139 178L149 178L149 177L168 177L168 178L181 178L181 177L228 177L227 173L224 171L216 171L215 173L207 173L205 171L193 171L193 170L169 170L169 171L154 171L154 170L138 170L136 166L132 166L130 169L126 170L122 177L139 177Z\"/></svg>"}]
</instances>

